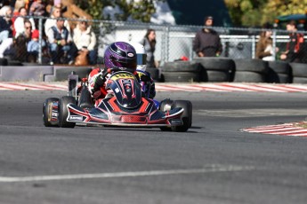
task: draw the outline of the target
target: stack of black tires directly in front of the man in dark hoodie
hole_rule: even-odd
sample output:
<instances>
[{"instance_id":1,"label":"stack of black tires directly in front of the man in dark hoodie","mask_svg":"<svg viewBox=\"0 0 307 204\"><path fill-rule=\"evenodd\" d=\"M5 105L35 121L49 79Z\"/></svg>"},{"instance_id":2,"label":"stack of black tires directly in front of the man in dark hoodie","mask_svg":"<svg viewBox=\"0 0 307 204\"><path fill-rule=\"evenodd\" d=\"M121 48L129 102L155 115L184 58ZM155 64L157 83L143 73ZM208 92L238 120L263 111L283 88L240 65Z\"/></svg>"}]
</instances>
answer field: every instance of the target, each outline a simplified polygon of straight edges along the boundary
<instances>
[{"instance_id":1,"label":"stack of black tires directly in front of the man in dark hoodie","mask_svg":"<svg viewBox=\"0 0 307 204\"><path fill-rule=\"evenodd\" d=\"M235 63L227 58L194 58L204 69L201 72L202 82L232 82Z\"/></svg>"}]
</instances>

